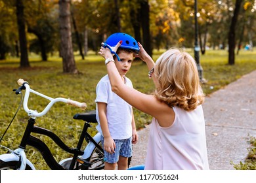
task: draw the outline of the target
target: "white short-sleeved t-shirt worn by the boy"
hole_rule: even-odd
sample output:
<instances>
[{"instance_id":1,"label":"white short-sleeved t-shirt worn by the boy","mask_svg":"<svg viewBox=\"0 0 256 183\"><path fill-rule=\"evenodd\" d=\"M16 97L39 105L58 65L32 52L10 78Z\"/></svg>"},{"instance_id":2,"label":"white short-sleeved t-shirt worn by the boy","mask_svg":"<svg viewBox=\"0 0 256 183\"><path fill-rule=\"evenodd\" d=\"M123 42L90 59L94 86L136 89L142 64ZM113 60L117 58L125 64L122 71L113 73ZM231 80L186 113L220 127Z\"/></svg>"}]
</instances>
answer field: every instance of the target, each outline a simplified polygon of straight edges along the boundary
<instances>
[{"instance_id":1,"label":"white short-sleeved t-shirt worn by the boy","mask_svg":"<svg viewBox=\"0 0 256 183\"><path fill-rule=\"evenodd\" d=\"M129 78L125 78L125 84L133 88ZM112 92L108 75L101 78L96 86L95 102L106 103L106 117L108 120L108 129L112 139L128 139L132 135L132 107L121 99L116 93ZM100 120L98 116L98 105L96 105L96 120L98 125L96 129L102 135Z\"/></svg>"}]
</instances>

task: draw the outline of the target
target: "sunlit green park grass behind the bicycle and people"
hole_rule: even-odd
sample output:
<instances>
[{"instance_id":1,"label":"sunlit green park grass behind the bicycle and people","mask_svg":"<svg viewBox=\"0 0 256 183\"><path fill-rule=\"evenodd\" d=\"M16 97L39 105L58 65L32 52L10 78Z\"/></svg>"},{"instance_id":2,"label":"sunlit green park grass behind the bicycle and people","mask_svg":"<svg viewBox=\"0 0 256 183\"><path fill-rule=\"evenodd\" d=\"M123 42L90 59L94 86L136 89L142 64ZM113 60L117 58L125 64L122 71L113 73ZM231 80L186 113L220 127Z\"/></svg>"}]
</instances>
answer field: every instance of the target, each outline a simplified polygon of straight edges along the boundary
<instances>
[{"instance_id":1,"label":"sunlit green park grass behind the bicycle and people","mask_svg":"<svg viewBox=\"0 0 256 183\"><path fill-rule=\"evenodd\" d=\"M187 50L193 55L192 50ZM163 50L154 52L154 60L156 60ZM228 52L225 50L209 50L204 56L200 56L200 63L203 67L203 78L207 80L203 84L203 92L209 95L216 90L226 86L226 84L237 80L241 76L250 73L256 69L256 51L246 52L240 51L236 56L235 65L227 65ZM20 95L15 95L12 92L13 88L18 88L16 81L18 78L23 78L30 83L33 90L49 95L50 97L65 97L87 103L87 109L95 110L95 88L98 80L106 75L106 67L103 59L90 53L81 60L79 56L75 56L77 69L81 72L80 75L64 75L62 73L62 61L60 58L54 56L49 58L49 61L41 61L39 56L30 56L30 69L18 69L19 59L8 58L0 61L0 135L2 136L5 129L9 125L16 112L18 103L20 102ZM148 78L148 69L141 61L135 61L131 71L127 76L133 81L133 86L140 92L152 93L154 92L154 84ZM29 108L37 109L39 112L47 105L47 100L42 99L31 94ZM56 103L53 108L42 118L37 118L37 125L45 127L54 131L59 137L69 146L75 146L83 122L75 121L72 116L78 112L85 112L79 108L68 106L65 104ZM135 121L137 129L143 128L144 125L151 122L151 117L147 114L135 111ZM9 131L5 135L1 145L15 149L26 127L28 116L24 110L18 112ZM95 133L95 130L91 130ZM47 137L39 137L50 147L55 158L67 158L70 154L64 153L60 150L51 139ZM85 144L83 144L85 146ZM6 150L0 149L0 154ZM36 169L49 169L42 160L41 155L36 150L28 148L28 159L32 160Z\"/></svg>"}]
</instances>

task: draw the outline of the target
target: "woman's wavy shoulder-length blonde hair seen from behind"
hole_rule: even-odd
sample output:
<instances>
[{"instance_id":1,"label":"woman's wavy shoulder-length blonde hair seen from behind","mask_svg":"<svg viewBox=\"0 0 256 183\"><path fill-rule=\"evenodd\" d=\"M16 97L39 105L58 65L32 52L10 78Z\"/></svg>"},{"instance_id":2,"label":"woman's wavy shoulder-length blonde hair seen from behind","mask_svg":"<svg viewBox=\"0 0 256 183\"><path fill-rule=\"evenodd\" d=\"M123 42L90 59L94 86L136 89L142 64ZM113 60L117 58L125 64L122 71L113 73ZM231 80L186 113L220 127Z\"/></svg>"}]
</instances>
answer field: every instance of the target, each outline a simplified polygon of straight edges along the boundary
<instances>
[{"instance_id":1,"label":"woman's wavy shoulder-length blonde hair seen from behind","mask_svg":"<svg viewBox=\"0 0 256 183\"><path fill-rule=\"evenodd\" d=\"M196 61L180 48L171 48L156 61L154 95L170 107L194 110L204 101Z\"/></svg>"}]
</instances>

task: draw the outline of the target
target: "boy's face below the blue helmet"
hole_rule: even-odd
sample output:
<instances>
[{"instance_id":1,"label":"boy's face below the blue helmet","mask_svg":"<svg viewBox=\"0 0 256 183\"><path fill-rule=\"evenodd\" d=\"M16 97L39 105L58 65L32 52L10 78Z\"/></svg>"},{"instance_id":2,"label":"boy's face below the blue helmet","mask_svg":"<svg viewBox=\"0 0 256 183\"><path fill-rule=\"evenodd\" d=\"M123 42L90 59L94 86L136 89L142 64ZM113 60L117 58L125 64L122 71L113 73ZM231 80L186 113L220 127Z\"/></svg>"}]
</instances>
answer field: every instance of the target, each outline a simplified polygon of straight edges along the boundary
<instances>
[{"instance_id":1,"label":"boy's face below the blue helmet","mask_svg":"<svg viewBox=\"0 0 256 183\"><path fill-rule=\"evenodd\" d=\"M120 61L115 58L117 71L121 76L126 75L131 68L133 62L133 53L119 52L118 54Z\"/></svg>"}]
</instances>

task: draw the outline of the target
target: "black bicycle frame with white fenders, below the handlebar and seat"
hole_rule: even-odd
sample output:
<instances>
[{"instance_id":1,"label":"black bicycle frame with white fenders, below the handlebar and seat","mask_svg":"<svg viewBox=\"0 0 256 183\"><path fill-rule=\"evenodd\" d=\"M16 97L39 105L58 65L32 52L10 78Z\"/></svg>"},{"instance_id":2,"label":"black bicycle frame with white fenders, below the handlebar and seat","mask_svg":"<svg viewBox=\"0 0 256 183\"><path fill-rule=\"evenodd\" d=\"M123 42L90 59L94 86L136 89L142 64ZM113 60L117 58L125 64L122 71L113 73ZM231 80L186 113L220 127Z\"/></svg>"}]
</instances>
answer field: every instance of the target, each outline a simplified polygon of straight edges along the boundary
<instances>
[{"instance_id":1,"label":"black bicycle frame with white fenders, below the handlebar and seat","mask_svg":"<svg viewBox=\"0 0 256 183\"><path fill-rule=\"evenodd\" d=\"M43 159L45 159L45 162L50 167L50 169L53 170L64 170L66 167L63 167L61 165L61 162L58 163L56 159L54 159L53 154L51 153L51 150L49 150L48 146L38 139L37 137L34 137L31 135L31 133L37 133L41 135L46 135L47 137L53 139L53 141L60 147L62 150L69 152L70 154L73 154L72 163L70 164L69 169L74 169L75 163L77 162L77 157L81 156L82 159L87 159L91 155L92 150L95 148L95 146L103 152L103 149L101 146L98 145L98 142L100 141L100 134L97 133L95 137L91 137L89 133L87 132L88 127L91 127L91 125L88 122L85 122L83 126L83 130L81 132L81 135L79 137L79 141L77 143L76 148L70 148L69 146L66 146L66 144L52 131L49 131L48 129L35 126L35 120L33 118L30 118L28 120L28 125L26 127L26 130L24 132L24 135L22 137L22 141L20 142L19 148L14 150L12 154L14 157L12 159L16 159L20 161L20 170L25 169L26 164L30 165L32 169L35 169L33 164L26 159L26 154L24 150L26 149L26 146L32 146L36 148L39 152L41 152ZM81 150L81 146L83 144L84 139L89 142L87 144L84 151ZM16 157L15 157L16 156ZM64 159L63 159L64 160ZM86 163L86 162L85 162ZM89 162L87 162L89 165Z\"/></svg>"}]
</instances>

